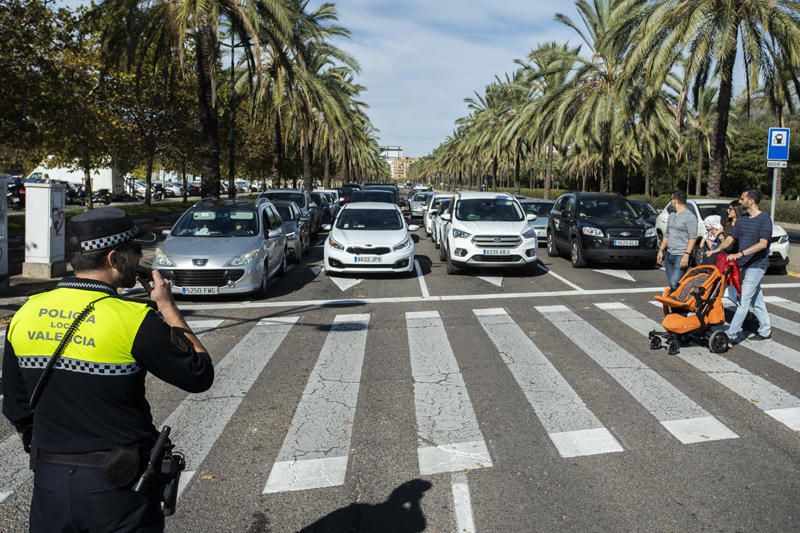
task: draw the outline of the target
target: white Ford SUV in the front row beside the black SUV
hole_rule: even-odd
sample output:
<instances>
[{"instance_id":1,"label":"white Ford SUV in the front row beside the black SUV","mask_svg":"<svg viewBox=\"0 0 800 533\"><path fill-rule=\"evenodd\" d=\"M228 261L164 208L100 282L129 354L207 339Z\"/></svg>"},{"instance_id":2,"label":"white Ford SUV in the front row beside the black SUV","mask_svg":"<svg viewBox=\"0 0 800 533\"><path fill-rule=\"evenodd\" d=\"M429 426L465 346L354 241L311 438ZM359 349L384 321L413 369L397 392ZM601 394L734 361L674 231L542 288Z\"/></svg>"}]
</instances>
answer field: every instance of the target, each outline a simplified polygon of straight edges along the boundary
<instances>
[{"instance_id":1,"label":"white Ford SUV in the front row beside the black SUV","mask_svg":"<svg viewBox=\"0 0 800 533\"><path fill-rule=\"evenodd\" d=\"M513 196L505 193L460 192L451 209L440 215L448 221L442 238L447 273L466 266L525 267L537 264L536 230Z\"/></svg>"}]
</instances>

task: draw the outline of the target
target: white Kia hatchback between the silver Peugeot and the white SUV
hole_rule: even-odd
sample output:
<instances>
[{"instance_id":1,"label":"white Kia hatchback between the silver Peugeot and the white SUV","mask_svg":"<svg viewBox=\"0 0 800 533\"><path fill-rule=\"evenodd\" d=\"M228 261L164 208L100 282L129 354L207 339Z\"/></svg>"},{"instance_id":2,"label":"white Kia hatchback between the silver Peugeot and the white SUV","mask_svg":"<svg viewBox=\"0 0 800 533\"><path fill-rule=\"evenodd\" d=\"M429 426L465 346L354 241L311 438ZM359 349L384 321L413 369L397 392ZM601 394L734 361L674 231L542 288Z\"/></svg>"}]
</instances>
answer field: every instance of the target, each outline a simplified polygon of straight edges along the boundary
<instances>
[{"instance_id":1,"label":"white Kia hatchback between the silver Peugeot and the white SUV","mask_svg":"<svg viewBox=\"0 0 800 533\"><path fill-rule=\"evenodd\" d=\"M414 241L395 204L356 202L342 207L325 239L325 272L413 272Z\"/></svg>"}]
</instances>

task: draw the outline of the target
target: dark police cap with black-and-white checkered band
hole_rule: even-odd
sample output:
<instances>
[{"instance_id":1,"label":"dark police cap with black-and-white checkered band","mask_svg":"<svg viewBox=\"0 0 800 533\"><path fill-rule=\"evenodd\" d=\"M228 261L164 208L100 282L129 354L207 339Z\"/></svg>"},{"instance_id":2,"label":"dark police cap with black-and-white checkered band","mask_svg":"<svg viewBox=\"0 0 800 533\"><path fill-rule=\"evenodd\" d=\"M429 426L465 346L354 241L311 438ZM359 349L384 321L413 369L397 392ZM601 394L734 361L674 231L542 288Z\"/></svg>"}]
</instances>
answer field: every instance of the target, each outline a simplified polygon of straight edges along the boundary
<instances>
[{"instance_id":1,"label":"dark police cap with black-and-white checkered band","mask_svg":"<svg viewBox=\"0 0 800 533\"><path fill-rule=\"evenodd\" d=\"M90 209L72 217L67 224L67 245L77 253L111 249L126 242L155 241L155 234L140 231L131 217L117 207Z\"/></svg>"}]
</instances>

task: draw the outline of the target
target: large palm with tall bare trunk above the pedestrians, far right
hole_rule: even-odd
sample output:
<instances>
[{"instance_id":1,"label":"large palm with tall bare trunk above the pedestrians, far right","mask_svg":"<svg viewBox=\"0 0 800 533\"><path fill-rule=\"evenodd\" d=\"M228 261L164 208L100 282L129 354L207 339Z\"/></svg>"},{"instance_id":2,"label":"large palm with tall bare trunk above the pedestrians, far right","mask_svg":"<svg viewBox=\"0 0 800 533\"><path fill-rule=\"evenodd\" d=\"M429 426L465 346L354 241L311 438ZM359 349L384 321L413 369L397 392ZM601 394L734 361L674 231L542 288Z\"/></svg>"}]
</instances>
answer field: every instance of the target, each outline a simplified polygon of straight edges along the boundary
<instances>
[{"instance_id":1,"label":"large palm with tall bare trunk above the pedestrians, far right","mask_svg":"<svg viewBox=\"0 0 800 533\"><path fill-rule=\"evenodd\" d=\"M661 0L653 2L641 20L630 69L641 69L651 87L661 87L673 65L686 53L679 120L691 85L710 70L718 76L717 120L708 176L708 195L717 197L725 168L736 58L741 50L748 89L757 86L759 72L769 62L770 45L792 68L800 66L800 4L796 0Z\"/></svg>"}]
</instances>

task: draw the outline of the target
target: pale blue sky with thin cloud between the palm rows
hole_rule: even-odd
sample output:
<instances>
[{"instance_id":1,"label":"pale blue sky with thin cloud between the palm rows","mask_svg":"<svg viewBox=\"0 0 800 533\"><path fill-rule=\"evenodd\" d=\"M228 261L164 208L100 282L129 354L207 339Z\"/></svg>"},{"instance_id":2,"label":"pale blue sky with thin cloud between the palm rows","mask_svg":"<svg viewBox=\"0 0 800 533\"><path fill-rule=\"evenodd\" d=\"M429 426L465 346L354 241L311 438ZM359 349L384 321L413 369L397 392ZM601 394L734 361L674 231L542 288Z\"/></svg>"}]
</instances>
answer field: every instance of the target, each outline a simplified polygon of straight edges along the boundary
<instances>
[{"instance_id":1,"label":"pale blue sky with thin cloud between the palm rows","mask_svg":"<svg viewBox=\"0 0 800 533\"><path fill-rule=\"evenodd\" d=\"M319 5L319 1L312 5ZM381 145L430 153L467 113L464 98L515 70L540 43L579 44L557 12L578 22L571 0L338 0L352 32L339 45L361 64L367 113Z\"/></svg>"}]
</instances>

